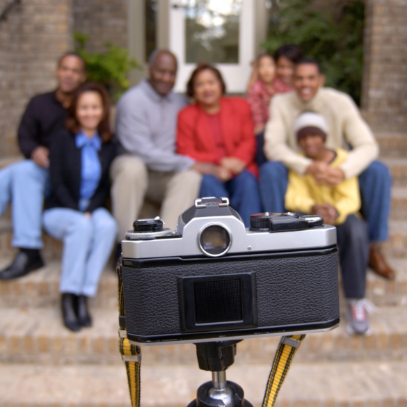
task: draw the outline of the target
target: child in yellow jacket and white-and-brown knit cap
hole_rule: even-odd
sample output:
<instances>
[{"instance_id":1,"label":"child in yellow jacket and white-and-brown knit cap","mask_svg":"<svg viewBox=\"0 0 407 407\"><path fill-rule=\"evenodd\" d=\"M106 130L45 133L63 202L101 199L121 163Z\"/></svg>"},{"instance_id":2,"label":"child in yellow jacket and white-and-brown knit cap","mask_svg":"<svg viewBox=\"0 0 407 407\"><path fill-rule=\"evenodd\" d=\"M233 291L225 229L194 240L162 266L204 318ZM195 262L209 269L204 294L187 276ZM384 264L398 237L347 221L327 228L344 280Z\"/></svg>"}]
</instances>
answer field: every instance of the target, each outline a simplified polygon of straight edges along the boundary
<instances>
[{"instance_id":1,"label":"child in yellow jacket and white-and-brown knit cap","mask_svg":"<svg viewBox=\"0 0 407 407\"><path fill-rule=\"evenodd\" d=\"M346 150L330 150L324 145L328 126L322 115L302 113L294 129L298 145L306 157L337 167L344 162ZM318 214L324 222L337 227L337 244L342 280L348 306L348 331L365 334L369 331L365 296L366 269L369 255L367 224L359 216L359 183L356 177L337 186L317 184L312 175L289 172L285 207L292 212Z\"/></svg>"}]
</instances>

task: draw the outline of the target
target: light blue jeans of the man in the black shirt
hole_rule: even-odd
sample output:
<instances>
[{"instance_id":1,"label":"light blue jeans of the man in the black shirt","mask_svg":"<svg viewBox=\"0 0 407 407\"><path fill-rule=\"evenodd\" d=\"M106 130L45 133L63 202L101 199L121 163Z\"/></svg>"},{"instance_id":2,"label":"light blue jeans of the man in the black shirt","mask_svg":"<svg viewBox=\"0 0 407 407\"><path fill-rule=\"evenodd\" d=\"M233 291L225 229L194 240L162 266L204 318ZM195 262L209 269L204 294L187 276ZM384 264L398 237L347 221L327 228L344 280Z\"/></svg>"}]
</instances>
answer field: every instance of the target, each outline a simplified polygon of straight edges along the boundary
<instances>
[{"instance_id":1,"label":"light blue jeans of the man in the black shirt","mask_svg":"<svg viewBox=\"0 0 407 407\"><path fill-rule=\"evenodd\" d=\"M32 160L0 170L0 216L11 203L13 247L42 248L42 205L49 190L49 171Z\"/></svg>"}]
</instances>

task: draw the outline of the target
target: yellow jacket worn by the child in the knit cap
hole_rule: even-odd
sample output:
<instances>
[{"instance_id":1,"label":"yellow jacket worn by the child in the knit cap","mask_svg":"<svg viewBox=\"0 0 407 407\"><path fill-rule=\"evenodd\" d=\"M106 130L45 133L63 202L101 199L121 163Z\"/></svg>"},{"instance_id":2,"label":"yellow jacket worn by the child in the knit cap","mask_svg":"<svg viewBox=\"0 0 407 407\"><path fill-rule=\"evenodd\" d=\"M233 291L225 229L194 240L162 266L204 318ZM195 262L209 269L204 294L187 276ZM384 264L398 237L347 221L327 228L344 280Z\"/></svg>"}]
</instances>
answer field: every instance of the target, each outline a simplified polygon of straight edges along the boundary
<instances>
[{"instance_id":1,"label":"yellow jacket worn by the child in the knit cap","mask_svg":"<svg viewBox=\"0 0 407 407\"><path fill-rule=\"evenodd\" d=\"M348 152L338 148L337 156L330 163L331 167L340 166L346 160ZM346 217L360 209L360 192L357 177L345 179L337 186L318 185L310 174L298 175L289 171L288 188L285 194L285 207L292 212L310 214L312 206L325 202L336 208L339 216L335 225L346 221Z\"/></svg>"}]
</instances>

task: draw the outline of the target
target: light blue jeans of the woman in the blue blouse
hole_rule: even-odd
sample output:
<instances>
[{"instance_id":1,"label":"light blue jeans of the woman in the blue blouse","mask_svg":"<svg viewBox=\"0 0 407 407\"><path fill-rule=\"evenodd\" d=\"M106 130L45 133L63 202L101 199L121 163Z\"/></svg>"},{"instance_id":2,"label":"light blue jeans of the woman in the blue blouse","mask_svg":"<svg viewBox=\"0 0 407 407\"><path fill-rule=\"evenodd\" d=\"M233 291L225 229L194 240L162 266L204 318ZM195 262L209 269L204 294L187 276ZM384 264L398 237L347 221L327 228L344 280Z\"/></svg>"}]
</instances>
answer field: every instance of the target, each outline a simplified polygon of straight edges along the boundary
<instances>
[{"instance_id":1,"label":"light blue jeans of the woman in the blue blouse","mask_svg":"<svg viewBox=\"0 0 407 407\"><path fill-rule=\"evenodd\" d=\"M95 296L118 232L113 216L104 208L91 218L73 209L52 208L43 220L45 230L63 240L60 292Z\"/></svg>"}]
</instances>

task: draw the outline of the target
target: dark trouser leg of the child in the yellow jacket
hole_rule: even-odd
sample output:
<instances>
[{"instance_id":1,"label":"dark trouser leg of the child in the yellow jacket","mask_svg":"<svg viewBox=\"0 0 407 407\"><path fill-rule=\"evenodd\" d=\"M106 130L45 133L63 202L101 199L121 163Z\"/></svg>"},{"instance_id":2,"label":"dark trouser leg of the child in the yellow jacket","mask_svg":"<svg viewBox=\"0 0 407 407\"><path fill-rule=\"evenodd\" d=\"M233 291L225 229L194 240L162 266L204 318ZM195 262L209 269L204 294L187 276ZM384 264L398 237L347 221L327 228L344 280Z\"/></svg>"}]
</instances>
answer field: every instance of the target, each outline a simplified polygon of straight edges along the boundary
<instances>
[{"instance_id":1,"label":"dark trouser leg of the child in the yellow jacket","mask_svg":"<svg viewBox=\"0 0 407 407\"><path fill-rule=\"evenodd\" d=\"M363 298L369 260L368 225L355 215L349 215L337 226L336 233L345 297Z\"/></svg>"}]
</instances>

